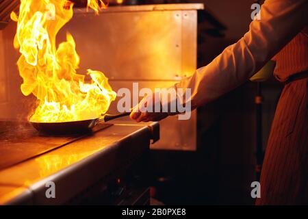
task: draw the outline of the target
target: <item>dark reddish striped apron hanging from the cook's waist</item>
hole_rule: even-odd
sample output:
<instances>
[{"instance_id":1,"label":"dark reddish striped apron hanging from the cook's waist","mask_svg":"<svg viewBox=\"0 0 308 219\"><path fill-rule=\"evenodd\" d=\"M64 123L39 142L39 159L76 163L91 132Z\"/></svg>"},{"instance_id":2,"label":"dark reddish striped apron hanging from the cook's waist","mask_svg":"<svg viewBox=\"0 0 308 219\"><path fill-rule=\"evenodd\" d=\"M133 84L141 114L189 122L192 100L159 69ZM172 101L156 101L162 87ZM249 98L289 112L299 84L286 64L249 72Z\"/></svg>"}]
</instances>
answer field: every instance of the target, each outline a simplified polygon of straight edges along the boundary
<instances>
[{"instance_id":1,"label":"dark reddish striped apron hanging from the cook's waist","mask_svg":"<svg viewBox=\"0 0 308 219\"><path fill-rule=\"evenodd\" d=\"M293 77L294 76L294 77ZM308 204L308 72L285 83L272 123L256 205Z\"/></svg>"}]
</instances>

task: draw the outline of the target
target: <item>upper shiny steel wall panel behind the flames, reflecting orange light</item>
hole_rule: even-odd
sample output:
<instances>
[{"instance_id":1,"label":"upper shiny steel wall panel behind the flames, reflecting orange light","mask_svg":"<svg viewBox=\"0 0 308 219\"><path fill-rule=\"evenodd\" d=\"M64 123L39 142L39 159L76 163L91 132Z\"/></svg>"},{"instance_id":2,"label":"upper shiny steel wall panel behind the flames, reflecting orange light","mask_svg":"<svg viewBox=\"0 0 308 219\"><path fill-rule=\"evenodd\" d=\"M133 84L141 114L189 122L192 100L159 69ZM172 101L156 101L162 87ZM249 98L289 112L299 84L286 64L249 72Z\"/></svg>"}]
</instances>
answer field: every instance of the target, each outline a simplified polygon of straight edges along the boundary
<instances>
[{"instance_id":1,"label":"upper shiny steel wall panel behind the flames, reflecting orange light","mask_svg":"<svg viewBox=\"0 0 308 219\"><path fill-rule=\"evenodd\" d=\"M196 11L77 13L62 29L81 57L79 72L110 79L175 80L196 68Z\"/></svg>"}]
</instances>

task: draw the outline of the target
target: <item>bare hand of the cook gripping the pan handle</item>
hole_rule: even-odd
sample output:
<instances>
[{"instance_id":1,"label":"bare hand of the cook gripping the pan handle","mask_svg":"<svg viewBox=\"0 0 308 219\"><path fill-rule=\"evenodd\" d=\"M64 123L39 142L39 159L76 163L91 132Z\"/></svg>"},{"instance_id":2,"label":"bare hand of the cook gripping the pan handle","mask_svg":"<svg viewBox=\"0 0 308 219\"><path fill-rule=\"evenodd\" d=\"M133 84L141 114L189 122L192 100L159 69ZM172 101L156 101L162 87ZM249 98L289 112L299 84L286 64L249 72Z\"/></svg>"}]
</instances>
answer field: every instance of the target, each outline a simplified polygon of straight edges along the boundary
<instances>
[{"instance_id":1,"label":"bare hand of the cook gripping the pan handle","mask_svg":"<svg viewBox=\"0 0 308 219\"><path fill-rule=\"evenodd\" d=\"M156 99L155 99L156 96ZM155 105L159 105L159 107L156 107L159 109L159 112L157 109L155 110ZM151 112L149 112L149 109L152 109ZM130 118L133 120L136 120L136 122L149 122L149 121L159 121L163 118L166 118L168 116L168 113L162 112L162 105L159 101L159 94L153 93L150 96L145 96L142 101L135 107L133 107L133 110L131 111Z\"/></svg>"}]
</instances>

